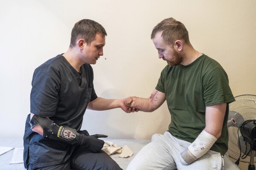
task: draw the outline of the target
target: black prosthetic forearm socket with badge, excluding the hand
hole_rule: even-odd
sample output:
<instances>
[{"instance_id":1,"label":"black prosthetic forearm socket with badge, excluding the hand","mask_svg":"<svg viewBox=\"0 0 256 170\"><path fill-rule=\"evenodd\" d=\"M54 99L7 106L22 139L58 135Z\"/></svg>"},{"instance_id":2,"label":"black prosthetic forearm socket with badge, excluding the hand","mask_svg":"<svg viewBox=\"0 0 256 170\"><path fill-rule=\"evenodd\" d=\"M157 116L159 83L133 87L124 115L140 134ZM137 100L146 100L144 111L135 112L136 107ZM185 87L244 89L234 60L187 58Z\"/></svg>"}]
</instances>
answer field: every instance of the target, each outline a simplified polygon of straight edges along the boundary
<instances>
[{"instance_id":1,"label":"black prosthetic forearm socket with badge, excluding the hand","mask_svg":"<svg viewBox=\"0 0 256 170\"><path fill-rule=\"evenodd\" d=\"M77 133L75 129L59 126L54 121L48 118L33 115L29 124L31 126L31 129L36 125L41 126L44 130L44 138L63 141L69 144L80 144L79 133Z\"/></svg>"}]
</instances>

